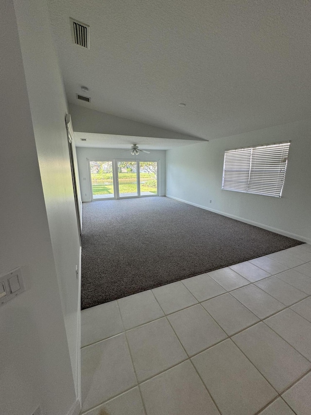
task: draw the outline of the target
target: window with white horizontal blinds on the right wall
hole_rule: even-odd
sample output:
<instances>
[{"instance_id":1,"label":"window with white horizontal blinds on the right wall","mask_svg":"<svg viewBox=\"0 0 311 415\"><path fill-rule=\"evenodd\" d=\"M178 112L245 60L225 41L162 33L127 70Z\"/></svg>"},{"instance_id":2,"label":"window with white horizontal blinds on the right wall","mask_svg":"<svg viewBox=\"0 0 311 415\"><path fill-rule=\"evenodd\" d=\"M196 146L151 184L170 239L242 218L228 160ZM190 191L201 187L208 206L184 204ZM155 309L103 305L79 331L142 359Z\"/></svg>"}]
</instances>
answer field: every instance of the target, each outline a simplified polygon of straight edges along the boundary
<instances>
[{"instance_id":1,"label":"window with white horizontal blinds on the right wall","mask_svg":"<svg viewBox=\"0 0 311 415\"><path fill-rule=\"evenodd\" d=\"M280 198L290 143L225 151L222 189Z\"/></svg>"}]
</instances>

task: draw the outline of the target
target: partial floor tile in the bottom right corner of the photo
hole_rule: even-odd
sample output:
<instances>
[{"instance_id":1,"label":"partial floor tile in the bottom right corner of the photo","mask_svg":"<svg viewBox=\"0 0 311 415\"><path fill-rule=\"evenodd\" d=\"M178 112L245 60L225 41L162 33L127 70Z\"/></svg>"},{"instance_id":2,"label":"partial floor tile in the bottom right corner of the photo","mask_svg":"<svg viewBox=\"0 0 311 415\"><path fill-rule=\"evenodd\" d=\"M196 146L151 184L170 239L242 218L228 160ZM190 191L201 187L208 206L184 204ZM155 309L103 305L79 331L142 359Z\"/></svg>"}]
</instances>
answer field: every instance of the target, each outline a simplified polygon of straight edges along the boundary
<instances>
[{"instance_id":1,"label":"partial floor tile in the bottom right corner of the photo","mask_svg":"<svg viewBox=\"0 0 311 415\"><path fill-rule=\"evenodd\" d=\"M297 415L311 414L311 373L282 395Z\"/></svg>"}]
</instances>

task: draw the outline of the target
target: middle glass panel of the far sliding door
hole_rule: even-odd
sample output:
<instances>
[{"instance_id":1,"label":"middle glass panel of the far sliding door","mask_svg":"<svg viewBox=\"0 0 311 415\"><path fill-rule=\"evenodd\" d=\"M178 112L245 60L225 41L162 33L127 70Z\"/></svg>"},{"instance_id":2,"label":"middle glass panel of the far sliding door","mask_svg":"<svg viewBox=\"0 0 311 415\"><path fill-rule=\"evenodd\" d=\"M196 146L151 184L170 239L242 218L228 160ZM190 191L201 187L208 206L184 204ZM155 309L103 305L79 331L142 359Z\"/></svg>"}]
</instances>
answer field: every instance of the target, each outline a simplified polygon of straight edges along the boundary
<instances>
[{"instance_id":1,"label":"middle glass panel of the far sliding door","mask_svg":"<svg viewBox=\"0 0 311 415\"><path fill-rule=\"evenodd\" d=\"M137 162L118 162L119 197L138 196Z\"/></svg>"}]
</instances>

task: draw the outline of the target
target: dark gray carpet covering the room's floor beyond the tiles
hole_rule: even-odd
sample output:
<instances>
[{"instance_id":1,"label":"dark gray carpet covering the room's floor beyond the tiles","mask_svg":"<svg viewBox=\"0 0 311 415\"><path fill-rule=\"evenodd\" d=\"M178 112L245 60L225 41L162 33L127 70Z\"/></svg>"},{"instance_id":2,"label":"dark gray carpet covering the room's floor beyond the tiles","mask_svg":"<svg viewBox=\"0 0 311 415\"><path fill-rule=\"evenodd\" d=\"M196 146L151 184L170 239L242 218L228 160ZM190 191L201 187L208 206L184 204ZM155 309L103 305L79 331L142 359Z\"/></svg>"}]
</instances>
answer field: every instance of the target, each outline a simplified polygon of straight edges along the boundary
<instances>
[{"instance_id":1,"label":"dark gray carpet covering the room's floor beyond the tiles","mask_svg":"<svg viewBox=\"0 0 311 415\"><path fill-rule=\"evenodd\" d=\"M301 243L165 197L84 203L82 309Z\"/></svg>"}]
</instances>

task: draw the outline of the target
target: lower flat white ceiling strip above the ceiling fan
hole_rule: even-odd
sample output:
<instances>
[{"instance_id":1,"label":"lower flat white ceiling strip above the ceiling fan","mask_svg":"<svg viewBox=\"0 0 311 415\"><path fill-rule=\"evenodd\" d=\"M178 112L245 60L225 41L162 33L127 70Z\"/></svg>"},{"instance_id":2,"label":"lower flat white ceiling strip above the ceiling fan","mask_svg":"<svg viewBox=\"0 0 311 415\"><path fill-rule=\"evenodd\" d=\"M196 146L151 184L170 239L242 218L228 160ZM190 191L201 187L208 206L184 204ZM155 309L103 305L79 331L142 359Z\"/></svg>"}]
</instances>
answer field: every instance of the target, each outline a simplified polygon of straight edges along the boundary
<instances>
[{"instance_id":1,"label":"lower flat white ceiling strip above the ceiling fan","mask_svg":"<svg viewBox=\"0 0 311 415\"><path fill-rule=\"evenodd\" d=\"M81 141L81 139L86 139L86 141ZM195 140L129 137L127 135L95 134L84 132L75 132L74 141L77 147L131 148L132 144L138 144L138 147L142 150L170 150L173 147L202 143L202 141Z\"/></svg>"}]
</instances>

